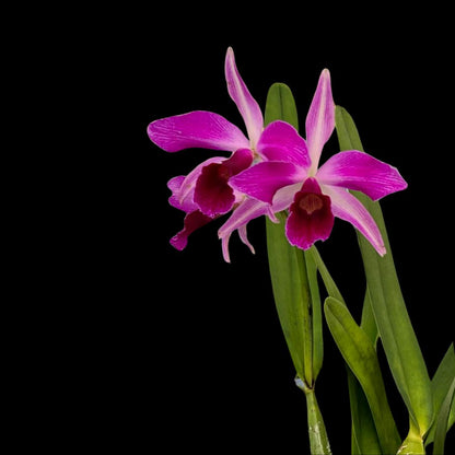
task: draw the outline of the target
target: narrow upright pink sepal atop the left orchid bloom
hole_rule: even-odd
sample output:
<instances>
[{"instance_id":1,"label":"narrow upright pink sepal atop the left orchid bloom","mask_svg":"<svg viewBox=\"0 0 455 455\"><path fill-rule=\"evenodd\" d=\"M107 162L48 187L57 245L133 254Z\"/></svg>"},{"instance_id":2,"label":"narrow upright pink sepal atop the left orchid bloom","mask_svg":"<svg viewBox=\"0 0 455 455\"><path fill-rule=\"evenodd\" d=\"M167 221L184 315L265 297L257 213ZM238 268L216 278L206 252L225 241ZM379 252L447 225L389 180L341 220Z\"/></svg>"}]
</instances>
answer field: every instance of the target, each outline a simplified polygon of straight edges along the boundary
<instances>
[{"instance_id":1,"label":"narrow upright pink sepal atop the left orchid bloom","mask_svg":"<svg viewBox=\"0 0 455 455\"><path fill-rule=\"evenodd\" d=\"M228 92L237 105L245 121L252 147L255 147L264 128L264 117L256 100L249 93L245 82L242 80L232 47L228 49L224 62L224 72L228 83Z\"/></svg>"}]
</instances>

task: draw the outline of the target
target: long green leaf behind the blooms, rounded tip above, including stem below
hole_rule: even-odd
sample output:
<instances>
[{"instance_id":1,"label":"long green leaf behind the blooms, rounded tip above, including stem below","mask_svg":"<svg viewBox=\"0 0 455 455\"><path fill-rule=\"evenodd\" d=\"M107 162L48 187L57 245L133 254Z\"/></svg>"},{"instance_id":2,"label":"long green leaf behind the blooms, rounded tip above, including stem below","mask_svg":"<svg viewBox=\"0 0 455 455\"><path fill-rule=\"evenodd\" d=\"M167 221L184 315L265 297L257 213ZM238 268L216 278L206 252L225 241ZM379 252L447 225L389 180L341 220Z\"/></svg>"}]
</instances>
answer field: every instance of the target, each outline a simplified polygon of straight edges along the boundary
<instances>
[{"instance_id":1,"label":"long green leaf behind the blooms, rounded tip above, including stem below","mask_svg":"<svg viewBox=\"0 0 455 455\"><path fill-rule=\"evenodd\" d=\"M299 129L291 90L273 84L268 93L265 122L284 120ZM278 213L278 224L266 220L267 250L275 303L293 360L296 384L305 393L311 453L331 454L323 416L316 401L314 382L323 363L320 298L316 265L312 257L288 242L285 213Z\"/></svg>"}]
</instances>

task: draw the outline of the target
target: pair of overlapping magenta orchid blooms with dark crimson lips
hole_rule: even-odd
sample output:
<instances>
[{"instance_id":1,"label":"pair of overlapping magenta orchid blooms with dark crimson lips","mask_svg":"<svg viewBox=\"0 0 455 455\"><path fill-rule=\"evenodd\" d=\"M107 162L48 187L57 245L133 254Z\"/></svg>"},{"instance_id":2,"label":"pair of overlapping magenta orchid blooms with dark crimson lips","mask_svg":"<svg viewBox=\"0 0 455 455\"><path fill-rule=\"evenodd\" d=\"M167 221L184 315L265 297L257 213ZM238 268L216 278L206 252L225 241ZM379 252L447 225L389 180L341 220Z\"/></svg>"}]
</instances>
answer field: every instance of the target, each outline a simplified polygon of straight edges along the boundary
<instances>
[{"instance_id":1,"label":"pair of overlapping magenta orchid blooms with dark crimson lips","mask_svg":"<svg viewBox=\"0 0 455 455\"><path fill-rule=\"evenodd\" d=\"M232 48L224 70L229 94L248 137L207 110L162 118L148 127L152 142L166 152L192 148L231 152L229 158L211 158L187 176L168 182L170 203L186 213L184 229L171 244L184 249L198 228L231 212L219 230L229 262L229 240L235 230L254 253L246 234L248 222L261 215L278 222L276 213L288 210L285 235L291 245L307 249L325 241L336 217L350 222L383 256L386 252L375 221L349 189L377 200L407 184L395 167L358 150L339 152L319 167L323 147L335 129L329 71L323 70L319 77L306 116L305 140L282 120L264 128L262 113L238 73Z\"/></svg>"}]
</instances>

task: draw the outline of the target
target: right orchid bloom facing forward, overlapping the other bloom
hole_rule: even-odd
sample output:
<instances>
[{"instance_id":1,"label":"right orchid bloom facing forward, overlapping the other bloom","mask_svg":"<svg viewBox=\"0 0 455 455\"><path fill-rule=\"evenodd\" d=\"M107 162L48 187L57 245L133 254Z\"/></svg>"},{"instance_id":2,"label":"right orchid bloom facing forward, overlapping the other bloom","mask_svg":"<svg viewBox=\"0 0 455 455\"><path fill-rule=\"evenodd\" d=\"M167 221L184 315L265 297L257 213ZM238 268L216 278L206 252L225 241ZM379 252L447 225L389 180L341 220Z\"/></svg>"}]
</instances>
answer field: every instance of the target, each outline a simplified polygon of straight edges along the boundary
<instances>
[{"instance_id":1,"label":"right orchid bloom facing forward, overlapping the other bloom","mask_svg":"<svg viewBox=\"0 0 455 455\"><path fill-rule=\"evenodd\" d=\"M324 144L335 128L335 103L330 73L325 69L318 81L305 122L306 141L293 153L273 149L264 160L238 173L230 185L245 195L267 202L273 211L289 209L285 234L302 249L330 235L334 219L340 218L357 228L383 256L386 250L381 232L363 205L348 190L359 190L373 200L405 189L399 172L358 150L342 151L320 167ZM273 207L275 206L275 207Z\"/></svg>"}]
</instances>

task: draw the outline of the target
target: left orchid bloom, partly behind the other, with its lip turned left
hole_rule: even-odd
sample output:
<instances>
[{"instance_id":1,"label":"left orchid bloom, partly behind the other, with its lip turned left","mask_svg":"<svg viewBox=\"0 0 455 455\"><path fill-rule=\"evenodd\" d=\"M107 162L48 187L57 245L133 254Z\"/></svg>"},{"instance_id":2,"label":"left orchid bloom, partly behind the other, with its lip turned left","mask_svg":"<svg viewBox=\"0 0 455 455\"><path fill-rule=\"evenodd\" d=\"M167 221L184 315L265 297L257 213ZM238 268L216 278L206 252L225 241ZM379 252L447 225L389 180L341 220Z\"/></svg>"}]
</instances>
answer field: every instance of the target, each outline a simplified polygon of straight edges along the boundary
<instances>
[{"instance_id":1,"label":"left orchid bloom, partly behind the other, with its lip turned left","mask_svg":"<svg viewBox=\"0 0 455 455\"><path fill-rule=\"evenodd\" d=\"M177 176L167 183L172 190L170 203L186 213L184 229L171 244L184 249L194 231L233 210L228 229L220 234L223 256L229 261L228 243L232 231L238 230L241 240L254 252L246 236L246 224L260 214L272 217L268 203L247 198L231 186L230 179L266 155L267 159L296 153L300 156L304 150L299 147L304 142L284 121L275 121L264 129L262 113L238 73L232 48L226 52L224 72L228 92L243 117L248 138L221 115L206 110L155 120L149 125L148 133L153 143L171 153L190 148L231 152L229 158L211 158L187 176ZM229 229L231 225L235 228Z\"/></svg>"}]
</instances>

